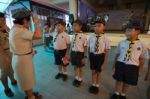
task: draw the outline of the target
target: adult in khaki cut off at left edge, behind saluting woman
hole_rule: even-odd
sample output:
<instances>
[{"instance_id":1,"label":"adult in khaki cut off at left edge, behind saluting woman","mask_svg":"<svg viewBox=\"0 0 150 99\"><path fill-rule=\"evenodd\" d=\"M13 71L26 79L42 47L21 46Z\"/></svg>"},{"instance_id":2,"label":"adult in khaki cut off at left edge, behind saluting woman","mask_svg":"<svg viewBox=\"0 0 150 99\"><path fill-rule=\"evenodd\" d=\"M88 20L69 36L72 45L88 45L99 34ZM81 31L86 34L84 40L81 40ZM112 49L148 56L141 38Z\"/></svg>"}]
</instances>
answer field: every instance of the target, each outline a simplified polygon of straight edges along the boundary
<instances>
[{"instance_id":1,"label":"adult in khaki cut off at left edge, behind saluting woman","mask_svg":"<svg viewBox=\"0 0 150 99\"><path fill-rule=\"evenodd\" d=\"M13 92L8 86L8 79L10 78L12 85L16 85L17 82L14 79L13 70L11 67L11 55L9 52L8 41L9 28L6 26L5 15L0 13L0 69L1 69L1 81L5 88L5 94L8 97L14 96Z\"/></svg>"}]
</instances>

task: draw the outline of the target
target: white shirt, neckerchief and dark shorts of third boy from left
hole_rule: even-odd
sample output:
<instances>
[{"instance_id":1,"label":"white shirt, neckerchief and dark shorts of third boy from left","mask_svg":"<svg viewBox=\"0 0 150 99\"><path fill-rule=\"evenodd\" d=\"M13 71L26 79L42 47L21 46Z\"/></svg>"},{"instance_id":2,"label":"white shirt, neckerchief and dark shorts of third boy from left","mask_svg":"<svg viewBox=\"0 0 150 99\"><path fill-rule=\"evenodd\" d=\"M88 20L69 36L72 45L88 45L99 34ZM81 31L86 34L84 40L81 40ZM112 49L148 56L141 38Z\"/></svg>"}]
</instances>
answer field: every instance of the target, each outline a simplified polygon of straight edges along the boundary
<instances>
[{"instance_id":1,"label":"white shirt, neckerchief and dark shorts of third boy from left","mask_svg":"<svg viewBox=\"0 0 150 99\"><path fill-rule=\"evenodd\" d=\"M89 38L88 44L90 50L90 67L91 70L101 72L101 66L105 59L105 50L110 49L110 40L104 34L97 35Z\"/></svg>"}]
</instances>

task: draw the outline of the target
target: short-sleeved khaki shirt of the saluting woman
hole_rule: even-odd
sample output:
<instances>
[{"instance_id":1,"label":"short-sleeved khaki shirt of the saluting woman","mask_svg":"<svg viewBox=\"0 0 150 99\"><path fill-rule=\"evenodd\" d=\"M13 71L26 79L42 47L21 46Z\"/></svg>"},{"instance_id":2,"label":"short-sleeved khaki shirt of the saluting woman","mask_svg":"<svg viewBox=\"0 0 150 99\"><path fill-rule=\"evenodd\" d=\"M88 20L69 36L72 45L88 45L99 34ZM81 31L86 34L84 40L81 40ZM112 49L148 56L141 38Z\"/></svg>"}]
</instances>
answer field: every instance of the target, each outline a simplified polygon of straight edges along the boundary
<instances>
[{"instance_id":1,"label":"short-sleeved khaki shirt of the saluting woman","mask_svg":"<svg viewBox=\"0 0 150 99\"><path fill-rule=\"evenodd\" d=\"M27 54L32 51L34 33L22 25L14 25L9 33L10 51L13 54Z\"/></svg>"}]
</instances>

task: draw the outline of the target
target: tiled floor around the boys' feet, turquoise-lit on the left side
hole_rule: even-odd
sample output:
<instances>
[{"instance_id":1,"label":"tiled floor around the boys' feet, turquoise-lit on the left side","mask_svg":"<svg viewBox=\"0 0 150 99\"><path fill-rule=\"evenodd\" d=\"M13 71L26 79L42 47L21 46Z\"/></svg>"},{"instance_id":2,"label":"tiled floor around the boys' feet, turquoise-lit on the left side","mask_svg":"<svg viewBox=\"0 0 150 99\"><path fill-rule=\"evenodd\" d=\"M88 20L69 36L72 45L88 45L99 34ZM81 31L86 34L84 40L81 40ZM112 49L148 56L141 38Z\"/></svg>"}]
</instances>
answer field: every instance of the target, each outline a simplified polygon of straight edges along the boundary
<instances>
[{"instance_id":1,"label":"tiled floor around the boys' feet, turquoise-lit on the left side","mask_svg":"<svg viewBox=\"0 0 150 99\"><path fill-rule=\"evenodd\" d=\"M69 66L69 80L55 80L54 76L57 73L57 67L54 66L53 53L45 52L43 47L36 47L38 54L34 57L35 73L37 85L35 90L38 90L43 99L109 99L114 91L114 80L112 79L111 67L114 59L115 48L109 52L109 59L106 70L103 72L103 79L98 95L88 93L88 87L91 84L91 71L89 66L85 67L84 84L81 88L72 86L73 67ZM146 99L147 82L144 81L145 72L139 79L139 84L136 87L131 87L128 93L128 99ZM24 94L17 87L11 87L15 93L13 98L7 98L3 93L3 87L0 84L0 99L24 99Z\"/></svg>"}]
</instances>

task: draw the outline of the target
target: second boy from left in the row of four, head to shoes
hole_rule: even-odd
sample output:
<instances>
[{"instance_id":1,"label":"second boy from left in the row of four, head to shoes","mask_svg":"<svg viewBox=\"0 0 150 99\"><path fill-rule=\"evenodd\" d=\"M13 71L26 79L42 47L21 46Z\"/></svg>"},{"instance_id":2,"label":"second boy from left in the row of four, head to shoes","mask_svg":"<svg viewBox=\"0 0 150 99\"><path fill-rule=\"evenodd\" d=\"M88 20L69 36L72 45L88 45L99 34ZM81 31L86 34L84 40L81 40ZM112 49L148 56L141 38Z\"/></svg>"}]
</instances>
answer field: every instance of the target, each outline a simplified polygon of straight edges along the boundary
<instances>
[{"instance_id":1,"label":"second boy from left in the row of four, head to shoes","mask_svg":"<svg viewBox=\"0 0 150 99\"><path fill-rule=\"evenodd\" d=\"M73 85L79 87L83 79L84 54L86 53L87 36L81 32L82 22L76 20L73 24L74 38L71 46L71 63L74 66L75 80Z\"/></svg>"}]
</instances>

